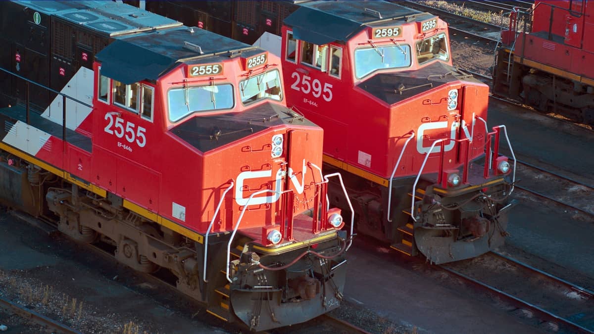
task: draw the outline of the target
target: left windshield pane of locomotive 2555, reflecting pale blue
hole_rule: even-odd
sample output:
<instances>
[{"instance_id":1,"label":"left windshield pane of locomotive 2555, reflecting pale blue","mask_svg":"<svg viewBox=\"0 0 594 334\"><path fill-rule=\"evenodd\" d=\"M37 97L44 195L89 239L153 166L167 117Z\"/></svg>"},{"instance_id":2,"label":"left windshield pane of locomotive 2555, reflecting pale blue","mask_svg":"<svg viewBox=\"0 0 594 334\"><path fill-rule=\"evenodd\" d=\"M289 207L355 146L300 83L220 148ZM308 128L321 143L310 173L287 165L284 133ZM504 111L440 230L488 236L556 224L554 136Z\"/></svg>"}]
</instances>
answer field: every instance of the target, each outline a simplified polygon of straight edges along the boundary
<instances>
[{"instance_id":1,"label":"left windshield pane of locomotive 2555, reflecting pale blue","mask_svg":"<svg viewBox=\"0 0 594 334\"><path fill-rule=\"evenodd\" d=\"M175 122L194 112L233 108L233 86L217 84L174 88L169 90L168 100L169 119Z\"/></svg>"}]
</instances>

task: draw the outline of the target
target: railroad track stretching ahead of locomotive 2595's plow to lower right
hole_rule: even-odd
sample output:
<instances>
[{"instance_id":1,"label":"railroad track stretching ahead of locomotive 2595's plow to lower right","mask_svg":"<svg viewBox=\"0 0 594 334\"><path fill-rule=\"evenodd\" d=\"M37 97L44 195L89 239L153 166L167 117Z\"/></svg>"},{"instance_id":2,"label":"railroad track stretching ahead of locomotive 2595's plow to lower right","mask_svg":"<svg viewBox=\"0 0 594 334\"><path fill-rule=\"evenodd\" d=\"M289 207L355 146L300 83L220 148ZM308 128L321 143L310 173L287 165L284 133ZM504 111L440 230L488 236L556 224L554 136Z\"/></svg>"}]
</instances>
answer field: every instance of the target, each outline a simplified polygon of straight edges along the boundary
<instances>
[{"instance_id":1,"label":"railroad track stretching ahead of locomotive 2595's plow to lower right","mask_svg":"<svg viewBox=\"0 0 594 334\"><path fill-rule=\"evenodd\" d=\"M554 332L594 333L594 292L518 260L487 253L439 267L513 304L519 316L535 316Z\"/></svg>"}]
</instances>

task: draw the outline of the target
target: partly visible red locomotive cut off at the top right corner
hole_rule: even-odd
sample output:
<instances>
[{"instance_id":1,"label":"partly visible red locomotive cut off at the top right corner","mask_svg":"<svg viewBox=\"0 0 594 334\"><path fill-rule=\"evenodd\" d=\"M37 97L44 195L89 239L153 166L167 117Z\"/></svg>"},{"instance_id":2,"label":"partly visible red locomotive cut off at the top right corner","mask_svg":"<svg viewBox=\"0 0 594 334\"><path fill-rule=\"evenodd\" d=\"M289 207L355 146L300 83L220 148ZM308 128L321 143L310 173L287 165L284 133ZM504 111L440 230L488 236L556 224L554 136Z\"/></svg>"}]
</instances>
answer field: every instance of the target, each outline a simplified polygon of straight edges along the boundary
<instances>
[{"instance_id":1,"label":"partly visible red locomotive cut off at the top right corner","mask_svg":"<svg viewBox=\"0 0 594 334\"><path fill-rule=\"evenodd\" d=\"M588 1L535 1L529 12L511 12L494 93L594 125L593 15Z\"/></svg>"}]
</instances>

